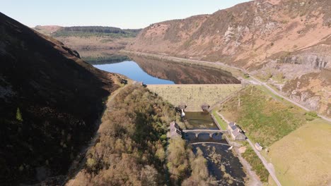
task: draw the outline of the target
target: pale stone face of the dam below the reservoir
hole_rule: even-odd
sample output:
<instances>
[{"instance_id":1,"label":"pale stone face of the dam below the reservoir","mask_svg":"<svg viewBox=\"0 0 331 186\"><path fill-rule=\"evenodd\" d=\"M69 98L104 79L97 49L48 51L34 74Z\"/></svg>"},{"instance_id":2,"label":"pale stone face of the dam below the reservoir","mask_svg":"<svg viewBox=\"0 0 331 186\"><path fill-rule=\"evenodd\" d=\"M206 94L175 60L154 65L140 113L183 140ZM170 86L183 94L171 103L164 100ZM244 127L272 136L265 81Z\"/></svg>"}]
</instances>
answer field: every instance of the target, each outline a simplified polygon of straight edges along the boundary
<instances>
[{"instance_id":1,"label":"pale stone face of the dam below the reservoir","mask_svg":"<svg viewBox=\"0 0 331 186\"><path fill-rule=\"evenodd\" d=\"M185 111L202 111L202 104L213 106L238 91L241 85L147 85L147 88L174 106L187 104Z\"/></svg>"}]
</instances>

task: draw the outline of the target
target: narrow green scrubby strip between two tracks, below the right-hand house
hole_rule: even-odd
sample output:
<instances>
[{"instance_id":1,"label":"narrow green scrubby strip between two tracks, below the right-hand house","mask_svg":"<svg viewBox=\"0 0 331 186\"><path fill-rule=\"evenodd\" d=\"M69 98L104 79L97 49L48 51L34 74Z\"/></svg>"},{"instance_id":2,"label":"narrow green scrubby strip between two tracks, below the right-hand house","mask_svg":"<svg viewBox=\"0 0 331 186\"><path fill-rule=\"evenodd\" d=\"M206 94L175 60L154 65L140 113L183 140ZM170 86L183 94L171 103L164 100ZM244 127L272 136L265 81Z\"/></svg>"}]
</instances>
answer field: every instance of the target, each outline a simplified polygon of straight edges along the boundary
<instances>
[{"instance_id":1,"label":"narrow green scrubby strip between two tracks, below the right-hand house","mask_svg":"<svg viewBox=\"0 0 331 186\"><path fill-rule=\"evenodd\" d=\"M259 157L255 154L255 151L250 146L247 146L246 148L246 151L243 153L243 158L248 161L248 163L250 163L250 166L252 166L252 170L260 176L260 180L262 182L267 182L269 172L267 171Z\"/></svg>"}]
</instances>

